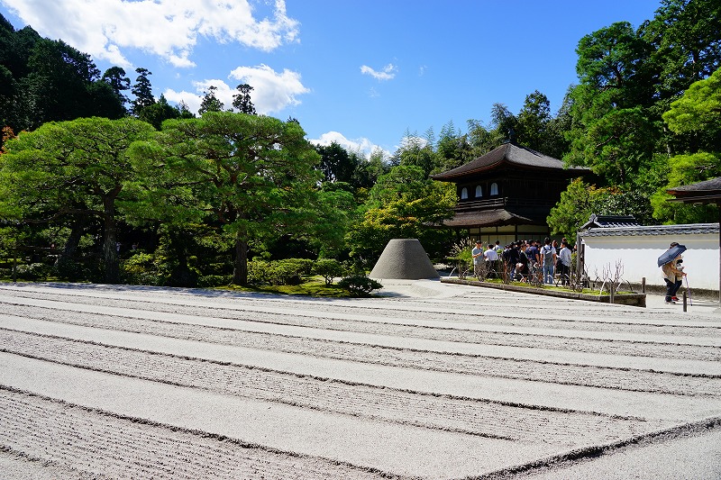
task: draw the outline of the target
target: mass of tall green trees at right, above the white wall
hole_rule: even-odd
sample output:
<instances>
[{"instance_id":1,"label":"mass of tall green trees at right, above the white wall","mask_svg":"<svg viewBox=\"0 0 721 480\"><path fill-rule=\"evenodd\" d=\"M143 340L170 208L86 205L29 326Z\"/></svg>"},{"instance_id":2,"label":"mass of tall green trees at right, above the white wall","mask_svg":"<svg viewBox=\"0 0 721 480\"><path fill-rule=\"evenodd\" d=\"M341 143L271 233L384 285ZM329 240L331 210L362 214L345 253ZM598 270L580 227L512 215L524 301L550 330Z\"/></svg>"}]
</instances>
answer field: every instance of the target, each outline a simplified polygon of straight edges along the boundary
<instances>
[{"instance_id":1,"label":"mass of tall green trees at right, above the white wall","mask_svg":"<svg viewBox=\"0 0 721 480\"><path fill-rule=\"evenodd\" d=\"M703 114L690 122L689 110L698 104L710 112L714 103L713 78L694 83L719 68L720 14L721 4L712 0L663 0L638 29L614 23L579 42L580 82L570 90L570 149L563 158L593 169L598 187L632 199L625 211L645 222L716 220L714 207L666 204L665 189L719 175L718 129ZM549 224L568 228L554 215Z\"/></svg>"}]
</instances>

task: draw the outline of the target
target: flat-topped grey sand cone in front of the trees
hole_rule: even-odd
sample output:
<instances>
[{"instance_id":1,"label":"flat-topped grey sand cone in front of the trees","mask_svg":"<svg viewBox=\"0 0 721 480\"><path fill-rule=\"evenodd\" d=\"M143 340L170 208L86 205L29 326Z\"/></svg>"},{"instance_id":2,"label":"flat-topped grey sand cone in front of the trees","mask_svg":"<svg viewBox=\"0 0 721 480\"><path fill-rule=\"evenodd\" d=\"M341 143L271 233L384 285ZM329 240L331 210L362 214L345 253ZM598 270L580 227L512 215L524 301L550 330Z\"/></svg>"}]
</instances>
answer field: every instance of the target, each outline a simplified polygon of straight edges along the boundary
<instances>
[{"instance_id":1,"label":"flat-topped grey sand cone in front of the trees","mask_svg":"<svg viewBox=\"0 0 721 480\"><path fill-rule=\"evenodd\" d=\"M421 280L439 278L421 242L416 239L393 239L380 255L370 278Z\"/></svg>"}]
</instances>

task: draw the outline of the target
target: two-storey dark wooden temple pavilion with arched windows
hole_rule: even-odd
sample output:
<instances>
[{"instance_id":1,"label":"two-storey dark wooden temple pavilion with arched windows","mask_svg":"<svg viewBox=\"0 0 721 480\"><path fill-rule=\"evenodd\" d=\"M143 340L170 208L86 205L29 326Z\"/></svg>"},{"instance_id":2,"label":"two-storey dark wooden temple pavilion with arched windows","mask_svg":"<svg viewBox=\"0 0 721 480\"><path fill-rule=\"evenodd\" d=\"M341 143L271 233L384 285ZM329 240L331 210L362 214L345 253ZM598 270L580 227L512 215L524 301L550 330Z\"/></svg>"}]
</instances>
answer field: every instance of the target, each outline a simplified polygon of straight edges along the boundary
<instances>
[{"instance_id":1,"label":"two-storey dark wooden temple pavilion with arched windows","mask_svg":"<svg viewBox=\"0 0 721 480\"><path fill-rule=\"evenodd\" d=\"M469 231L484 244L500 240L543 240L550 236L546 217L570 180L590 175L588 168L506 143L458 168L432 176L456 184L458 204L446 227Z\"/></svg>"}]
</instances>

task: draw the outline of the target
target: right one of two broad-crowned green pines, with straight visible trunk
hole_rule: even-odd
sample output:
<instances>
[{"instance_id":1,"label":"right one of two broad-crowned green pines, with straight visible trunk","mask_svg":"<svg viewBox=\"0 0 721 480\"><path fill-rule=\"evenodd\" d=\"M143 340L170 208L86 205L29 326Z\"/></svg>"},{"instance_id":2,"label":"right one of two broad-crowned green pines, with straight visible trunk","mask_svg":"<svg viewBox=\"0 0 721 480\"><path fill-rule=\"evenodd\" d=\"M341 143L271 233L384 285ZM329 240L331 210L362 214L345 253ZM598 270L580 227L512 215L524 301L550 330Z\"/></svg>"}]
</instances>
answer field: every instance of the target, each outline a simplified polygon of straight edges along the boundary
<instances>
[{"instance_id":1,"label":"right one of two broad-crowned green pines, with straight visible trunk","mask_svg":"<svg viewBox=\"0 0 721 480\"><path fill-rule=\"evenodd\" d=\"M253 241L307 236L317 218L319 156L305 135L297 122L206 112L165 122L138 151L140 158L159 158L177 184L192 189L187 208L209 215L233 239L233 283L247 285Z\"/></svg>"}]
</instances>

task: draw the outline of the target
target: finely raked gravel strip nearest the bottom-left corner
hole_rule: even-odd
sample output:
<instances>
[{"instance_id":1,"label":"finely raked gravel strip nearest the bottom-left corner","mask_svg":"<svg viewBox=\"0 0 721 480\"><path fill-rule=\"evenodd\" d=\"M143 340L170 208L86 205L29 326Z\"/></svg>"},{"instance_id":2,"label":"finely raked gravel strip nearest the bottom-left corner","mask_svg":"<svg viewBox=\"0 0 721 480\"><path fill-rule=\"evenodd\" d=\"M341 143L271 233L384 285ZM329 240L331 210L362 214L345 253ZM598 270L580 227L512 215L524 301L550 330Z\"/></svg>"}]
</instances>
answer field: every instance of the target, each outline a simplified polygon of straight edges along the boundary
<instances>
[{"instance_id":1,"label":"finely raked gravel strip nearest the bottom-left corner","mask_svg":"<svg viewBox=\"0 0 721 480\"><path fill-rule=\"evenodd\" d=\"M0 416L4 424L0 444L7 440L2 432L12 431L13 443L19 444L14 449L25 455L76 468L78 463L88 462L90 468L83 465L82 470L105 472L117 478L149 477L153 471L163 477L188 479L258 474L279 478L294 469L299 469L300 478L307 479L316 475L400 478L367 466L106 412L5 385L0 385L0 404L4 412L11 413ZM126 452L129 448L132 454Z\"/></svg>"}]
</instances>

